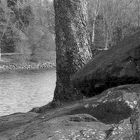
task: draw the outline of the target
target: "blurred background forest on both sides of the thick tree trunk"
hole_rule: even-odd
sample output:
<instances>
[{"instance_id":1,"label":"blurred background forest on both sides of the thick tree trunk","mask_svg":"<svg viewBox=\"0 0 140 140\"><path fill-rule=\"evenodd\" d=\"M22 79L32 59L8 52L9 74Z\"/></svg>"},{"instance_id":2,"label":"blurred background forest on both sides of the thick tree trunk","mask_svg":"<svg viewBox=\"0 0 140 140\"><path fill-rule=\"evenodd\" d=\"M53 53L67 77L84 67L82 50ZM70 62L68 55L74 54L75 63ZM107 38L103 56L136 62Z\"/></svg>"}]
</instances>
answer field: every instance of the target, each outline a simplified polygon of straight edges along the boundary
<instances>
[{"instance_id":1,"label":"blurred background forest on both sides of the thick tree trunk","mask_svg":"<svg viewBox=\"0 0 140 140\"><path fill-rule=\"evenodd\" d=\"M139 0L88 0L88 33L93 54L139 30ZM1 52L25 59L55 50L54 9L47 0L1 0ZM135 16L134 16L135 15ZM49 54L48 54L49 55ZM40 58L41 59L41 58Z\"/></svg>"}]
</instances>

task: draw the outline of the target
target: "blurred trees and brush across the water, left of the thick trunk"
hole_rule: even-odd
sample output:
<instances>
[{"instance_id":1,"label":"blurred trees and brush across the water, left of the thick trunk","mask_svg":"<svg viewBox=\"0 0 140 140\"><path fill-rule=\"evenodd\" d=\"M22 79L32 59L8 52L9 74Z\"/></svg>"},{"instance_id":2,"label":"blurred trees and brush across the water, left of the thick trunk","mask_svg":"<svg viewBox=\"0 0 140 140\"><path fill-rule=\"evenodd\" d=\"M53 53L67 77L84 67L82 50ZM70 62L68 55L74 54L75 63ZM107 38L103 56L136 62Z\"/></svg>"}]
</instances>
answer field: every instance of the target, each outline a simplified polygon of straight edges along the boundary
<instances>
[{"instance_id":1,"label":"blurred trees and brush across the water, left of the thick trunk","mask_svg":"<svg viewBox=\"0 0 140 140\"><path fill-rule=\"evenodd\" d=\"M40 0L2 0L0 9L2 52L16 51L28 54L29 59L32 59L38 47L46 51L54 50L52 3L42 3Z\"/></svg>"}]
</instances>

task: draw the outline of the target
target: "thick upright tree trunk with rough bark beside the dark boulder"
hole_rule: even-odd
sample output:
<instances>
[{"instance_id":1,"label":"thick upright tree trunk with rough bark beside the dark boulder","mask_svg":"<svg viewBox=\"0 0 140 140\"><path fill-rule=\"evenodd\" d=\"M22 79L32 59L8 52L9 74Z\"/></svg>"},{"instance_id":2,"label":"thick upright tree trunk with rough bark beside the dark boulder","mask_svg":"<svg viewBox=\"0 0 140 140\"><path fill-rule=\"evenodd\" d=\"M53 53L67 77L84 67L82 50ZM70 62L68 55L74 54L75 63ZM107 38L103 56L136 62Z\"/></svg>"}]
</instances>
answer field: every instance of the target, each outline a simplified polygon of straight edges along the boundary
<instances>
[{"instance_id":1,"label":"thick upright tree trunk with rough bark beside the dark boulder","mask_svg":"<svg viewBox=\"0 0 140 140\"><path fill-rule=\"evenodd\" d=\"M73 88L71 76L92 57L87 33L86 0L54 0L57 82L54 102L81 97Z\"/></svg>"}]
</instances>

